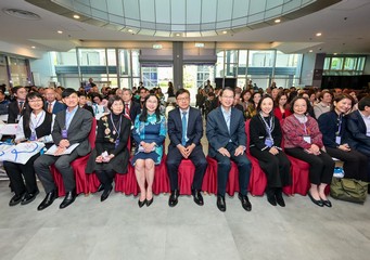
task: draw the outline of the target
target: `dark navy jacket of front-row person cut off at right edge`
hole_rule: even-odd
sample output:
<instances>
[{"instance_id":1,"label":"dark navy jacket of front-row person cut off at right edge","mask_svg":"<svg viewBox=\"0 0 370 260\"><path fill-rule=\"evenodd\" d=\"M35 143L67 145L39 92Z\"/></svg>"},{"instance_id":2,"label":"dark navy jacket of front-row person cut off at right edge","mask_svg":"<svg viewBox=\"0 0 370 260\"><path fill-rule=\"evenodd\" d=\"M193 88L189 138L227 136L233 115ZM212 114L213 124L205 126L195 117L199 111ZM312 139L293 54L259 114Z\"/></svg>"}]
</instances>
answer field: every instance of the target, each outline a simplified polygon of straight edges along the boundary
<instances>
[{"instance_id":1,"label":"dark navy jacket of front-row person cut off at right edge","mask_svg":"<svg viewBox=\"0 0 370 260\"><path fill-rule=\"evenodd\" d=\"M358 146L370 147L370 136L366 135L366 125L359 110L348 115L347 130L349 146L355 148Z\"/></svg>"}]
</instances>

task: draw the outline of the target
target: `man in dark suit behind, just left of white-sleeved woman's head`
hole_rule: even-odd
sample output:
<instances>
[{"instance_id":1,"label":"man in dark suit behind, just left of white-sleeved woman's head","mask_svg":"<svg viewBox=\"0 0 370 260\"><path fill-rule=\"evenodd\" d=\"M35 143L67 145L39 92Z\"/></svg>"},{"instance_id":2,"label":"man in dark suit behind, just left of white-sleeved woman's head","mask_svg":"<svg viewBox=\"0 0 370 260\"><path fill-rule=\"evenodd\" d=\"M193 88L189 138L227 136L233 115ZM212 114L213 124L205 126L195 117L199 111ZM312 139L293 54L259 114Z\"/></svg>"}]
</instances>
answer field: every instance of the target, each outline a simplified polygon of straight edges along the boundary
<instances>
[{"instance_id":1,"label":"man in dark suit behind, just left of white-sleeved woman's head","mask_svg":"<svg viewBox=\"0 0 370 260\"><path fill-rule=\"evenodd\" d=\"M22 86L14 87L12 89L15 101L11 102L8 106L8 123L15 123L20 121L21 116L23 115L27 95L27 89Z\"/></svg>"}]
</instances>

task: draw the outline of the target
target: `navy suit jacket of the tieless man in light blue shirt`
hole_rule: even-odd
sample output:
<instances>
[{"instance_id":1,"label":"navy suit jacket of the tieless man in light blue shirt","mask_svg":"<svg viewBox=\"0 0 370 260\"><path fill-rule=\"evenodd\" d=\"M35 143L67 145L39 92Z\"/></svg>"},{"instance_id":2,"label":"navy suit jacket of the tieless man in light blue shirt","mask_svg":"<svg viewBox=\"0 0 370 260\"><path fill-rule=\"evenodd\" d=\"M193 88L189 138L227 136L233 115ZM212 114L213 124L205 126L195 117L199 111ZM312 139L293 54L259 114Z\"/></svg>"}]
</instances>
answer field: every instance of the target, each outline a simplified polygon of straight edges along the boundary
<instances>
[{"instance_id":1,"label":"navy suit jacket of the tieless man in light blue shirt","mask_svg":"<svg viewBox=\"0 0 370 260\"><path fill-rule=\"evenodd\" d=\"M229 132L222 115L221 106L212 110L207 117L206 135L209 143L208 154L212 157L218 153L220 147L226 147L230 140L237 146L245 146L246 135L243 113L234 107L231 107Z\"/></svg>"}]
</instances>

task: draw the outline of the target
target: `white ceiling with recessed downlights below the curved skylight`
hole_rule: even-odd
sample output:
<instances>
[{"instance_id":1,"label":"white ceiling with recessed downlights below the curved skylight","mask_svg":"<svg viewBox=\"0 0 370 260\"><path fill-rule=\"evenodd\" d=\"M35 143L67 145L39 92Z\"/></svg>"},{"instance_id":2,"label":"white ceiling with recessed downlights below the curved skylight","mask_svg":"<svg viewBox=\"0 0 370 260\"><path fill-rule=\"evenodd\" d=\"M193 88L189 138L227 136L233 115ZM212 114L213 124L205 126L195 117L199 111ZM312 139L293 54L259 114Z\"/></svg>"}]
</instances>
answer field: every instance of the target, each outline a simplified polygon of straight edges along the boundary
<instances>
[{"instance_id":1,"label":"white ceiling with recessed downlights below the curved skylight","mask_svg":"<svg viewBox=\"0 0 370 260\"><path fill-rule=\"evenodd\" d=\"M306 53L312 50L314 53L328 54L370 54L369 0L343 0L294 21L254 30L229 31L227 35L201 38L164 38L110 30L56 15L24 0L1 0L0 9L26 10L41 17L39 21L26 21L0 12L0 43L24 49L35 46L35 50L38 51L67 51L74 47L98 44L118 47L125 42L130 42L133 47L136 44L133 41L145 41L149 46L156 41L217 41L225 48L228 48L228 44L230 48L260 46L276 48L285 53ZM58 30L63 30L63 34L58 34ZM321 37L315 36L318 31L322 32Z\"/></svg>"}]
</instances>

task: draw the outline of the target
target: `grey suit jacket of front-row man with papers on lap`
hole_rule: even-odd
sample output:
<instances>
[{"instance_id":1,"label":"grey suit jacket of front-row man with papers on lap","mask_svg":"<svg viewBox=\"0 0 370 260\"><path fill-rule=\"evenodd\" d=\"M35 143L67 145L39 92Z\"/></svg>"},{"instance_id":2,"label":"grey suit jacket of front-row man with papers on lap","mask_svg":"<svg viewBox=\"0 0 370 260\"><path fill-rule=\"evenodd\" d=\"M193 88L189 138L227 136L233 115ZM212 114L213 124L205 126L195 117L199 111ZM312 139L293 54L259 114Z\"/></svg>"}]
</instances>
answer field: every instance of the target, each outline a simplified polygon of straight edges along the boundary
<instances>
[{"instance_id":1,"label":"grey suit jacket of front-row man with papers on lap","mask_svg":"<svg viewBox=\"0 0 370 260\"><path fill-rule=\"evenodd\" d=\"M54 128L51 133L56 145L61 142L62 129L65 127L65 113L62 110L55 116ZM67 131L69 144L79 143L76 147L78 156L84 156L90 153L91 146L89 143L89 133L91 131L92 116L88 110L78 107L73 117Z\"/></svg>"}]
</instances>

